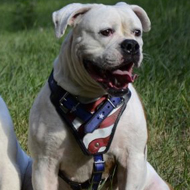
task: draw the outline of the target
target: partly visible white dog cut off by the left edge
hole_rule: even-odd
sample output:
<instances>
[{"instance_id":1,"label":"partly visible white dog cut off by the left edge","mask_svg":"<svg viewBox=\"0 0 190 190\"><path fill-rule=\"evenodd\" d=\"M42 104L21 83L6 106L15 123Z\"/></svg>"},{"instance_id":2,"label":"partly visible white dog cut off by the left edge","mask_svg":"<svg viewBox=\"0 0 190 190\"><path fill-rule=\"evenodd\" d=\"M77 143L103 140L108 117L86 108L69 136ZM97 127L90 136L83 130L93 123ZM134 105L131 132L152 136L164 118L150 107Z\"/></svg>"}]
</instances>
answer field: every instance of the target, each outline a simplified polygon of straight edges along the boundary
<instances>
[{"instance_id":1,"label":"partly visible white dog cut off by the left edge","mask_svg":"<svg viewBox=\"0 0 190 190\"><path fill-rule=\"evenodd\" d=\"M0 189L32 190L32 161L16 139L9 111L0 97Z\"/></svg>"}]
</instances>

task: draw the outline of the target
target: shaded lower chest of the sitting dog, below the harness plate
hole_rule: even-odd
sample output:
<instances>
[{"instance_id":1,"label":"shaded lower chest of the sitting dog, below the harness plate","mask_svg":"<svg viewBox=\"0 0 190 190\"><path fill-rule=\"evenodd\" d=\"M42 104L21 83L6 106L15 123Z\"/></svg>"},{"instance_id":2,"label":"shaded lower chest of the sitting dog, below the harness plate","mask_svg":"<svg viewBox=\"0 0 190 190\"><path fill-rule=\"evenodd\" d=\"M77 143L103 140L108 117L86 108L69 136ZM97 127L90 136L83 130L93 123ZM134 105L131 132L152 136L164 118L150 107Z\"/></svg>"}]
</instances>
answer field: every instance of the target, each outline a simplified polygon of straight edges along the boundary
<instances>
[{"instance_id":1,"label":"shaded lower chest of the sitting dog, below the harness plate","mask_svg":"<svg viewBox=\"0 0 190 190\"><path fill-rule=\"evenodd\" d=\"M116 160L112 154L104 154L104 161L105 171L102 177L107 178L113 172L116 166ZM68 179L76 182L84 182L92 176L93 157L84 155L78 144L73 141L72 148L65 148L60 170Z\"/></svg>"}]
</instances>

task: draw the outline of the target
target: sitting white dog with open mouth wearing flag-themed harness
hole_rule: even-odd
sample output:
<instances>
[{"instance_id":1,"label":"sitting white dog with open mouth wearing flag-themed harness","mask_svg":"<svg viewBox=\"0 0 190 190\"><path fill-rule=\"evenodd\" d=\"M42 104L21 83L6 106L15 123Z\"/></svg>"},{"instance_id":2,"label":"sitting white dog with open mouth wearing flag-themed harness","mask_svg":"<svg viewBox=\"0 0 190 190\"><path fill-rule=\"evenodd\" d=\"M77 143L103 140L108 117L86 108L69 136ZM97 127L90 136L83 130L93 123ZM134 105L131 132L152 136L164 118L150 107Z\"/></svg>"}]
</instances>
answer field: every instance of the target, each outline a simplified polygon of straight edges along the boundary
<instances>
[{"instance_id":1,"label":"sitting white dog with open mouth wearing flag-themed harness","mask_svg":"<svg viewBox=\"0 0 190 190\"><path fill-rule=\"evenodd\" d=\"M49 83L42 88L30 113L29 149L33 158L34 190L57 190L58 186L64 190L71 187L80 189L83 186L73 185L74 182L85 182L91 176L96 178L93 164L102 164L102 158L93 163L93 156L84 155L80 147L91 155L106 152L103 154L105 169L101 176L106 181L105 188L109 187L109 180L106 179L109 179L117 163L113 189L169 190L169 186L146 161L146 119L141 101L129 84L135 79L133 66L139 67L142 61L142 32L150 30L146 12L139 6L126 3L117 3L115 6L75 3L54 12L53 21L57 37L63 36L67 26L71 26L72 31L64 40L54 62ZM66 93L60 97L62 90L57 88L64 89ZM106 116L104 112L108 112L99 111L99 107L104 109L102 104L113 107L111 115L115 112L121 114L129 92L131 98L111 143L109 135L114 133L113 125L107 128L92 125L98 119L102 121ZM100 97L104 98L101 106L89 111L92 115L92 112L99 115L89 116L83 108L97 103ZM119 103L114 104L113 97L121 97L116 99ZM70 99L74 100L70 102ZM71 105L73 102L76 105ZM58 110L65 114L64 119ZM81 114L81 110L85 114ZM73 115L75 119L71 121ZM70 121L75 128L73 133L79 131L78 140L68 127ZM102 135L103 140L97 140L98 135ZM60 172L65 180L62 185L58 185ZM89 183L96 189L93 180ZM99 185L100 181L97 183Z\"/></svg>"}]
</instances>

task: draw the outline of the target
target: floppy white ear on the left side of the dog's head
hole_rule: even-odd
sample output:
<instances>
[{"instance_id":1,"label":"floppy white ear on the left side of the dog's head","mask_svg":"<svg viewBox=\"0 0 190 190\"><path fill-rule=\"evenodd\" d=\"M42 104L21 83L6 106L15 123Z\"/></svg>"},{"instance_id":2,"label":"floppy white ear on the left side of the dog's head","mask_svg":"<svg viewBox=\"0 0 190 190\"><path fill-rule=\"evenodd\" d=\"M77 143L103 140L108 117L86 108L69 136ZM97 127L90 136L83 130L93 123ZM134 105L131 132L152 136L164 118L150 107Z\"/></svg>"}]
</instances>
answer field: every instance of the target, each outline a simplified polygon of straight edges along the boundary
<instances>
[{"instance_id":1,"label":"floppy white ear on the left side of the dog's head","mask_svg":"<svg viewBox=\"0 0 190 190\"><path fill-rule=\"evenodd\" d=\"M92 8L90 4L72 3L53 12L52 19L55 25L55 34L61 38L67 26L74 26L76 21Z\"/></svg>"}]
</instances>

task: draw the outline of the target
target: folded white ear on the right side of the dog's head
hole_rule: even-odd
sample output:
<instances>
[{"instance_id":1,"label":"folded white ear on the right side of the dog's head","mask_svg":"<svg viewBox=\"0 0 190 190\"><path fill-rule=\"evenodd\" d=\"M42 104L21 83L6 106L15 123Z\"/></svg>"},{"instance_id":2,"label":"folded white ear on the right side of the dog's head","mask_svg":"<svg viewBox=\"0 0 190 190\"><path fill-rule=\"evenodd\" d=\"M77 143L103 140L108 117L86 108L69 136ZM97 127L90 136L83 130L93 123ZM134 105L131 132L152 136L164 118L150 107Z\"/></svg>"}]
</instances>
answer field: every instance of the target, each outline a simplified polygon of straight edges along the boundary
<instances>
[{"instance_id":1,"label":"folded white ear on the right side of the dog's head","mask_svg":"<svg viewBox=\"0 0 190 190\"><path fill-rule=\"evenodd\" d=\"M130 5L130 6L132 10L135 12L135 14L139 17L142 23L143 31L144 32L150 31L151 22L145 10L137 5Z\"/></svg>"}]
</instances>

